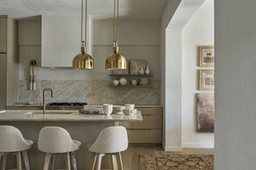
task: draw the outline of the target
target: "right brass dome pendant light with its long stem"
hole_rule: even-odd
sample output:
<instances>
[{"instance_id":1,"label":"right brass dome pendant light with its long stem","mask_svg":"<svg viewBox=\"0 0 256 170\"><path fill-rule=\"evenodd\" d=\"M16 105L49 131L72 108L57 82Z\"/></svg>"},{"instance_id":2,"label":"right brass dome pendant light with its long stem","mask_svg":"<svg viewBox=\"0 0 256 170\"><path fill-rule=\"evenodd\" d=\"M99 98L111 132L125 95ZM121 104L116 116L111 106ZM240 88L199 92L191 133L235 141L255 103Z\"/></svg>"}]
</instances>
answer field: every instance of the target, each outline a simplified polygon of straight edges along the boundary
<instances>
[{"instance_id":1,"label":"right brass dome pendant light with its long stem","mask_svg":"<svg viewBox=\"0 0 256 170\"><path fill-rule=\"evenodd\" d=\"M106 58L106 69L126 69L126 58L119 53L118 48L118 18L119 1L114 0L114 53Z\"/></svg>"}]
</instances>

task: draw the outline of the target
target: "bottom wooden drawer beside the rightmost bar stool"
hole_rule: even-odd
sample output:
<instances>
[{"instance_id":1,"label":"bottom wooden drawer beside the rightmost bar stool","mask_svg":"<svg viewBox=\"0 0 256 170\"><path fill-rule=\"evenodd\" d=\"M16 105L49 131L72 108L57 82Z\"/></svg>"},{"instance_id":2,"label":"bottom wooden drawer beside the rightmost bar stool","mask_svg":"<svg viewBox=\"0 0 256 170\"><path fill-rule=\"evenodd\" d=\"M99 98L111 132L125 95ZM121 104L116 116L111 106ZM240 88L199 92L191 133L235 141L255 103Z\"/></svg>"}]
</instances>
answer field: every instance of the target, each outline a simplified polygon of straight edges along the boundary
<instances>
[{"instance_id":1,"label":"bottom wooden drawer beside the rightmost bar stool","mask_svg":"<svg viewBox=\"0 0 256 170\"><path fill-rule=\"evenodd\" d=\"M130 144L161 144L162 130L144 129L144 130L127 130Z\"/></svg>"}]
</instances>

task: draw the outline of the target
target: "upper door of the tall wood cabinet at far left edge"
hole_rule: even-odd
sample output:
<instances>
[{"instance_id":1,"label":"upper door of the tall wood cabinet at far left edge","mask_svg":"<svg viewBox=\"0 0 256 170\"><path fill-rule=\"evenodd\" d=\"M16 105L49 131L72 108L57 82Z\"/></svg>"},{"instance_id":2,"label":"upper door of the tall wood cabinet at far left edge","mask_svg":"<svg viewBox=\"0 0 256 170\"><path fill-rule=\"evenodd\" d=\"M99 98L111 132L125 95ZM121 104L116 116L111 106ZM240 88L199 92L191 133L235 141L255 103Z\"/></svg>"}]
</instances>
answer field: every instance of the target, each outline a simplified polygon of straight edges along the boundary
<instances>
[{"instance_id":1,"label":"upper door of the tall wood cabinet at far left edge","mask_svg":"<svg viewBox=\"0 0 256 170\"><path fill-rule=\"evenodd\" d=\"M0 53L7 53L7 17L0 16Z\"/></svg>"}]
</instances>

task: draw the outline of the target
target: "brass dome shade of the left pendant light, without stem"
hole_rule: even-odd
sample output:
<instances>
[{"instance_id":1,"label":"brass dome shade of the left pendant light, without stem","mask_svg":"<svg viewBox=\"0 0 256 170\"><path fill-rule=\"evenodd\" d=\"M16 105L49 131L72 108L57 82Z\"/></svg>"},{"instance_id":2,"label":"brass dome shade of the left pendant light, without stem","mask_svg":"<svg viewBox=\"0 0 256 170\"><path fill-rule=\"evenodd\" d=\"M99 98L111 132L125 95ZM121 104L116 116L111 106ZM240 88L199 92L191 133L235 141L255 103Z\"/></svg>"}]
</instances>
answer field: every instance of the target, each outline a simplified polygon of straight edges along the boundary
<instances>
[{"instance_id":1,"label":"brass dome shade of the left pendant light, without stem","mask_svg":"<svg viewBox=\"0 0 256 170\"><path fill-rule=\"evenodd\" d=\"M83 42L81 53L73 59L73 69L94 69L94 58L86 53L86 45Z\"/></svg>"}]
</instances>

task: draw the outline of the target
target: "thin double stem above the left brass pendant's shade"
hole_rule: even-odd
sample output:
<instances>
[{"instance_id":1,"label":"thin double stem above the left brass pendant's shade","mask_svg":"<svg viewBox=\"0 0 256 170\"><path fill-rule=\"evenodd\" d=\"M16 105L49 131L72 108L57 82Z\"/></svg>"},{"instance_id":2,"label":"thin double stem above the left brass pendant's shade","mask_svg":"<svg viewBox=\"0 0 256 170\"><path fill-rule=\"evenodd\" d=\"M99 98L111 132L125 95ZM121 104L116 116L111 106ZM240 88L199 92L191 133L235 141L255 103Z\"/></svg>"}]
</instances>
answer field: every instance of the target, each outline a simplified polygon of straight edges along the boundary
<instances>
[{"instance_id":1,"label":"thin double stem above the left brass pendant's shade","mask_svg":"<svg viewBox=\"0 0 256 170\"><path fill-rule=\"evenodd\" d=\"M82 12L81 12L81 42L82 44L86 42L87 39L87 0L86 0L86 11L85 11L85 20L84 20L84 2L82 0ZM83 23L85 22L85 23ZM85 26L85 30L83 30L83 26ZM83 35L84 34L84 35Z\"/></svg>"}]
</instances>

